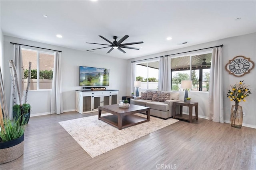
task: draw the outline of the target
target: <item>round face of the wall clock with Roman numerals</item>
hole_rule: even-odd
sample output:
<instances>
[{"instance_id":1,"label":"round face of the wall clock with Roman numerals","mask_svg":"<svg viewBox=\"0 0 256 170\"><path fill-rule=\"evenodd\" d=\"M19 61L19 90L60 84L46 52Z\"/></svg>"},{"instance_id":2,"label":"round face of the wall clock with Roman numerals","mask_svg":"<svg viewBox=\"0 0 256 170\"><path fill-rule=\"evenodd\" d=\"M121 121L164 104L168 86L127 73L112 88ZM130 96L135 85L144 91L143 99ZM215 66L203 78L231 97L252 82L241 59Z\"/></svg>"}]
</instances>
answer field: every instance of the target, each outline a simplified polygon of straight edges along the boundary
<instances>
[{"instance_id":1,"label":"round face of the wall clock with Roman numerals","mask_svg":"<svg viewBox=\"0 0 256 170\"><path fill-rule=\"evenodd\" d=\"M236 59L229 65L229 70L235 74L241 74L249 69L250 63L245 59Z\"/></svg>"}]
</instances>

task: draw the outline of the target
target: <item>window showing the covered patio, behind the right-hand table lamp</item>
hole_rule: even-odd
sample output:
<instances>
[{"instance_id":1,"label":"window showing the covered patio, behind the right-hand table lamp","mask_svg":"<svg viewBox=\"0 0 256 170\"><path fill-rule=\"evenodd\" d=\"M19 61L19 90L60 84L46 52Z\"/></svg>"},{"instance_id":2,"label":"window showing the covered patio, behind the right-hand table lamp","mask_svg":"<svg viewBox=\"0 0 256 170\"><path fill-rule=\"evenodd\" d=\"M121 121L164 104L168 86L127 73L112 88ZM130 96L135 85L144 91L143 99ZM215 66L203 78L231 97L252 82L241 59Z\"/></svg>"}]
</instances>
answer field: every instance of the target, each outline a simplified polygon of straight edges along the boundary
<instances>
[{"instance_id":1,"label":"window showing the covered patio, behind the right-hand table lamp","mask_svg":"<svg viewBox=\"0 0 256 170\"><path fill-rule=\"evenodd\" d=\"M192 80L192 90L208 92L211 59L210 52L172 58L172 90L180 91L182 80Z\"/></svg>"}]
</instances>

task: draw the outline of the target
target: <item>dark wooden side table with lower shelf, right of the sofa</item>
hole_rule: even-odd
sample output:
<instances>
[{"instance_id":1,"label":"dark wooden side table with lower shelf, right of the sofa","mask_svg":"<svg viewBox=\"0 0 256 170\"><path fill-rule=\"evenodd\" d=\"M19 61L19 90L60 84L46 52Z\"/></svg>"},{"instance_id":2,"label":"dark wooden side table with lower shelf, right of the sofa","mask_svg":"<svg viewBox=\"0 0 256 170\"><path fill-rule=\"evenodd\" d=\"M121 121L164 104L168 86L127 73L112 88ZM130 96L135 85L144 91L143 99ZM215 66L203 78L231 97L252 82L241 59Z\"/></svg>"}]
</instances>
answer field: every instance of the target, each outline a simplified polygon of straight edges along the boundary
<instances>
[{"instance_id":1,"label":"dark wooden side table with lower shelf, right of the sofa","mask_svg":"<svg viewBox=\"0 0 256 170\"><path fill-rule=\"evenodd\" d=\"M176 106L180 106L180 114L177 114L177 115L176 115ZM183 106L188 106L189 115L182 114ZM192 116L193 106L195 107L196 116ZM178 118L178 119L188 120L189 123L192 123L193 119L198 120L198 102L190 102L190 103L186 103L183 101L173 102L172 113L173 113L174 119Z\"/></svg>"}]
</instances>

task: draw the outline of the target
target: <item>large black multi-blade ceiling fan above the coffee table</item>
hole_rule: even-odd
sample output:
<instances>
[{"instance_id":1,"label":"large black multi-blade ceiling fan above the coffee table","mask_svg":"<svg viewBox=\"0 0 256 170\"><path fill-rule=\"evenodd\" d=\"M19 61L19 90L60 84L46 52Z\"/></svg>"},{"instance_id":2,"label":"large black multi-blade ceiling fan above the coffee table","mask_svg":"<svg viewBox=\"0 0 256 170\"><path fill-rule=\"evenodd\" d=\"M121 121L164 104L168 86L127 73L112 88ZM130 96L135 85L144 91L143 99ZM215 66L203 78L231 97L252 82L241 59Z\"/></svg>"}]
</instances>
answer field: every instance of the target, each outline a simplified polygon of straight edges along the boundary
<instances>
[{"instance_id":1,"label":"large black multi-blade ceiling fan above the coffee table","mask_svg":"<svg viewBox=\"0 0 256 170\"><path fill-rule=\"evenodd\" d=\"M139 42L121 44L124 40L126 40L129 37L129 35L124 35L124 37L122 37L119 41L116 41L117 37L113 36L113 39L114 39L113 42L109 41L108 39L106 39L105 37L103 37L101 35L99 35L99 37L101 37L105 41L108 41L108 43L110 43L111 45L109 45L109 44L98 44L98 43L88 43L88 44L108 45L108 47L111 47L111 49L107 52L107 54L110 53L113 49L118 49L122 53L126 53L126 52L121 48L139 50L139 48L127 47L126 45L133 45L133 44L143 43L143 41L139 41ZM97 48L97 49L104 49L104 48L108 48L108 47L101 47L101 48ZM92 50L97 50L97 49L92 49Z\"/></svg>"}]
</instances>

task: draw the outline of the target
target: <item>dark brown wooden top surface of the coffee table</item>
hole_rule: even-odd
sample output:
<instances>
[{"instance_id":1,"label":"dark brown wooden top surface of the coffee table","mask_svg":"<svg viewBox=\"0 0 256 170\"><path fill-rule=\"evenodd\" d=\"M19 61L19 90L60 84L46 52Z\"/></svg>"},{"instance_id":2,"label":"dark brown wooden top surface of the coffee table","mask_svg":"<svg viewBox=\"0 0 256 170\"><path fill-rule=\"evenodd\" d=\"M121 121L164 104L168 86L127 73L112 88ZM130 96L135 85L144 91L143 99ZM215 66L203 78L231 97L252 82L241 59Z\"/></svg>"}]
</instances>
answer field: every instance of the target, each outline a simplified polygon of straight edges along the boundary
<instances>
[{"instance_id":1,"label":"dark brown wooden top surface of the coffee table","mask_svg":"<svg viewBox=\"0 0 256 170\"><path fill-rule=\"evenodd\" d=\"M113 105L106 105L106 106L99 106L98 109L104 110L104 111L109 111L109 112L115 112L115 113L139 113L143 111L147 111L149 107L144 107L144 106L138 106L134 104L130 104L130 107L128 108L121 108L118 106L118 104L113 104Z\"/></svg>"}]
</instances>

